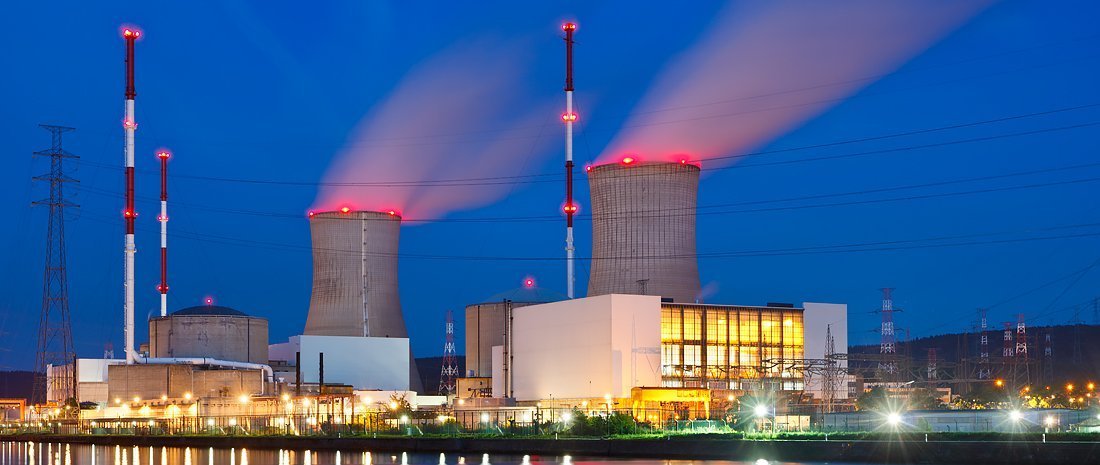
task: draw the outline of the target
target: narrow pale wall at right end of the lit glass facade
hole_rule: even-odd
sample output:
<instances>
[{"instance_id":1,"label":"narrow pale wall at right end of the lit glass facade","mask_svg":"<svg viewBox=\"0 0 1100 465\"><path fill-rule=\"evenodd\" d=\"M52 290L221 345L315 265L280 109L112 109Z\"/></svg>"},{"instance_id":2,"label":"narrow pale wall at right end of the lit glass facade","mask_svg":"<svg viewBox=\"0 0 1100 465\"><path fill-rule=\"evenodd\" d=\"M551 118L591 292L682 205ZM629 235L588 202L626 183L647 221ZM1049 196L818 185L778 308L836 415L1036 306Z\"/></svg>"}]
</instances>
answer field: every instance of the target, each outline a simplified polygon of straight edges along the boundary
<instances>
[{"instance_id":1,"label":"narrow pale wall at right end of the lit glass facade","mask_svg":"<svg viewBox=\"0 0 1100 465\"><path fill-rule=\"evenodd\" d=\"M803 328L805 334L805 357L825 358L825 331L831 329L834 347L838 354L848 353L848 306L846 303L803 303ZM837 366L845 368L847 361L840 361ZM818 399L824 398L824 386L821 374L806 375L806 392ZM837 377L835 399L848 398L848 376Z\"/></svg>"}]
</instances>

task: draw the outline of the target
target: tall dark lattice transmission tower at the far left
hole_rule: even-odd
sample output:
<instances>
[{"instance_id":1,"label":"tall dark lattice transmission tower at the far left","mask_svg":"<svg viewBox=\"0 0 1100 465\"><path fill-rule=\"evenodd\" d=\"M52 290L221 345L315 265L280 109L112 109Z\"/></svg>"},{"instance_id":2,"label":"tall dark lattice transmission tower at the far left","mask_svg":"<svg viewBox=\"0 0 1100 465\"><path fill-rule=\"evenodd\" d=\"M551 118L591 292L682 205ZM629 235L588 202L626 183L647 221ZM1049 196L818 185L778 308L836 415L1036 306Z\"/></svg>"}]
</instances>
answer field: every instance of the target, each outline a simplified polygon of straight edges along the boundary
<instances>
[{"instance_id":1,"label":"tall dark lattice transmission tower at the far left","mask_svg":"<svg viewBox=\"0 0 1100 465\"><path fill-rule=\"evenodd\" d=\"M53 143L48 150L34 153L35 156L50 157L50 173L34 177L34 180L50 182L50 198L33 202L35 206L50 208L45 269L42 276L42 314L38 320L38 347L34 356L34 387L31 395L31 401L35 403L45 402L48 394L63 400L76 398L73 370L62 368L63 365L75 363L69 324L68 278L65 270L65 209L77 206L65 200L63 187L76 179L65 176L63 160L77 156L62 146L62 135L75 130L47 124L40 126L50 131ZM54 370L54 376L48 378L47 366L53 366Z\"/></svg>"}]
</instances>

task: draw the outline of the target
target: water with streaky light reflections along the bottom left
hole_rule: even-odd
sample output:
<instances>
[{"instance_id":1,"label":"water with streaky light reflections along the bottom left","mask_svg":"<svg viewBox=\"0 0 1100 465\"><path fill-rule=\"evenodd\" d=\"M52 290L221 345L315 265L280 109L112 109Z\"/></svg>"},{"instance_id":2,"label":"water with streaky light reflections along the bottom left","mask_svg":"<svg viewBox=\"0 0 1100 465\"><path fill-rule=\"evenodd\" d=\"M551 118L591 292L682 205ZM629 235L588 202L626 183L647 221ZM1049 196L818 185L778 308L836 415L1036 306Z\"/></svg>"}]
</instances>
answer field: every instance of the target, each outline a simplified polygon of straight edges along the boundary
<instances>
[{"instance_id":1,"label":"water with streaky light reflections along the bottom left","mask_svg":"<svg viewBox=\"0 0 1100 465\"><path fill-rule=\"evenodd\" d=\"M144 452L144 453L143 453ZM569 455L372 454L365 451L250 450L216 447L124 447L91 444L0 442L0 465L812 465L756 461L661 461L578 458ZM492 460L491 460L492 458Z\"/></svg>"}]
</instances>

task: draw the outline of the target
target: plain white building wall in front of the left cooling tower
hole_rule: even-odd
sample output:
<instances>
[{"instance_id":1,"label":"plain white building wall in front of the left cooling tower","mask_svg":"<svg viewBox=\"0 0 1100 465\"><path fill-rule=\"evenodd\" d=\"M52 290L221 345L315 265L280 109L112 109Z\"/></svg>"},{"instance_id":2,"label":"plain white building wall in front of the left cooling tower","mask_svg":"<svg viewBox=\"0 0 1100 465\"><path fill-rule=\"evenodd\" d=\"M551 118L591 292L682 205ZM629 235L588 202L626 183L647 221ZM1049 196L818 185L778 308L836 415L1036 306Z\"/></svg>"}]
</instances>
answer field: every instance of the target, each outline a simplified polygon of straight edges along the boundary
<instances>
[{"instance_id":1,"label":"plain white building wall in front of the left cooling tower","mask_svg":"<svg viewBox=\"0 0 1100 465\"><path fill-rule=\"evenodd\" d=\"M355 389L409 390L409 340L301 335L302 383L317 383L319 354L324 353L324 383Z\"/></svg>"}]
</instances>

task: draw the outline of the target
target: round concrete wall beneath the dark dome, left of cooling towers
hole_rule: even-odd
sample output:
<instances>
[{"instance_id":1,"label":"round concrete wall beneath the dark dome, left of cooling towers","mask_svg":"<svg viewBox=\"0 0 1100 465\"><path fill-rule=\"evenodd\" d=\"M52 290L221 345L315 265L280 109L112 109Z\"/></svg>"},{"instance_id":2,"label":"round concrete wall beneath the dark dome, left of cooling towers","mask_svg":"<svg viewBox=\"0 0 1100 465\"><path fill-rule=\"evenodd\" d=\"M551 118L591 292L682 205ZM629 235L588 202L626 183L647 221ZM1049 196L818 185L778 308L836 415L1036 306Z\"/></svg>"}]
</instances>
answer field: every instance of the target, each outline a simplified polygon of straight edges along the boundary
<instances>
[{"instance_id":1,"label":"round concrete wall beneath the dark dome, left of cooling towers","mask_svg":"<svg viewBox=\"0 0 1100 465\"><path fill-rule=\"evenodd\" d=\"M235 315L168 315L148 322L153 357L209 357L267 363L267 320Z\"/></svg>"}]
</instances>

